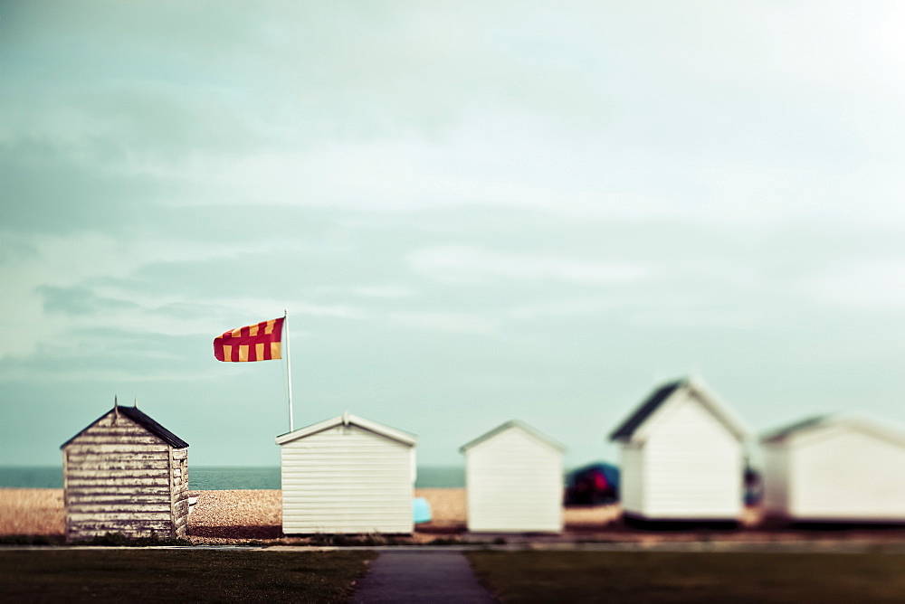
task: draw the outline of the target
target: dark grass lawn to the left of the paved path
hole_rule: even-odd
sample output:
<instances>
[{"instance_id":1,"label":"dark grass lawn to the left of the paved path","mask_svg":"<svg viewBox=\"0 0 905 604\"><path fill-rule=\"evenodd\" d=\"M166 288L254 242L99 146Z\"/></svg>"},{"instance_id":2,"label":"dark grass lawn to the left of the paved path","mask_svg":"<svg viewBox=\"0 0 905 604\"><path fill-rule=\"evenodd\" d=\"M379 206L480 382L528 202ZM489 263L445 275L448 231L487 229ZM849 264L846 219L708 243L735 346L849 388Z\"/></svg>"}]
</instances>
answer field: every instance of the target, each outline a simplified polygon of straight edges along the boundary
<instances>
[{"instance_id":1,"label":"dark grass lawn to the left of the paved path","mask_svg":"<svg viewBox=\"0 0 905 604\"><path fill-rule=\"evenodd\" d=\"M17 601L345 602L373 552L29 550L0 552Z\"/></svg>"}]
</instances>

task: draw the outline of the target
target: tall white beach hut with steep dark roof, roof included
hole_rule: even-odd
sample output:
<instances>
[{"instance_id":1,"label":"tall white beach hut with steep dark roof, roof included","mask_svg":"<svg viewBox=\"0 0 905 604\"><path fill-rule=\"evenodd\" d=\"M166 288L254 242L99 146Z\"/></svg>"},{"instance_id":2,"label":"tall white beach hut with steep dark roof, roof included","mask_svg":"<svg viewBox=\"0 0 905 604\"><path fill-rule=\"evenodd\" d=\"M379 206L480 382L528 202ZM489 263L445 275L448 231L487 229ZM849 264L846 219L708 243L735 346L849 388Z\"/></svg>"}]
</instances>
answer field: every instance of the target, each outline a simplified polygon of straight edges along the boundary
<instances>
[{"instance_id":1,"label":"tall white beach hut with steep dark roof, roof included","mask_svg":"<svg viewBox=\"0 0 905 604\"><path fill-rule=\"evenodd\" d=\"M738 521L747 435L700 379L662 385L610 435L621 445L625 516Z\"/></svg>"}]
</instances>

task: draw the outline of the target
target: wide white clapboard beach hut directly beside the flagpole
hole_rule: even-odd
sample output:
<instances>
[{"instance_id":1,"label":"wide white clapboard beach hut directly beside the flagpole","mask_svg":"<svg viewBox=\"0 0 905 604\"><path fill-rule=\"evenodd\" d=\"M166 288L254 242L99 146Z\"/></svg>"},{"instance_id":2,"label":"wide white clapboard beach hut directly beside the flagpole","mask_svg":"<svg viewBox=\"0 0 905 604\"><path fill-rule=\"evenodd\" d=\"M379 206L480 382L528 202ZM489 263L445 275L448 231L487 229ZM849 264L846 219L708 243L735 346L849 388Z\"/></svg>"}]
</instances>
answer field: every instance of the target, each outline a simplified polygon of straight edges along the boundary
<instances>
[{"instance_id":1,"label":"wide white clapboard beach hut directly beside the flagpole","mask_svg":"<svg viewBox=\"0 0 905 604\"><path fill-rule=\"evenodd\" d=\"M412 533L415 438L348 412L277 437L286 534Z\"/></svg>"}]
</instances>

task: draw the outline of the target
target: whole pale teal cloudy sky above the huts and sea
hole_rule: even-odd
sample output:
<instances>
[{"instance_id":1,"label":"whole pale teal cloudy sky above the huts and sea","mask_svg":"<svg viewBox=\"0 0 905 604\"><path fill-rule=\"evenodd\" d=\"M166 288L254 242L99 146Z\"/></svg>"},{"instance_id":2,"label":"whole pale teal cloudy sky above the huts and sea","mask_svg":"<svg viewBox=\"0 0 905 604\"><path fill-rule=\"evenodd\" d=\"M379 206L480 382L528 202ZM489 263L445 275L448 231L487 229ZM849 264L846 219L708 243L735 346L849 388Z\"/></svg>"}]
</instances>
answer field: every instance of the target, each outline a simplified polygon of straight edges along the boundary
<instances>
[{"instance_id":1,"label":"whole pale teal cloudy sky above the huts and sea","mask_svg":"<svg viewBox=\"0 0 905 604\"><path fill-rule=\"evenodd\" d=\"M700 376L905 422L905 4L0 3L0 464L114 397L193 465L343 411L576 466Z\"/></svg>"}]
</instances>

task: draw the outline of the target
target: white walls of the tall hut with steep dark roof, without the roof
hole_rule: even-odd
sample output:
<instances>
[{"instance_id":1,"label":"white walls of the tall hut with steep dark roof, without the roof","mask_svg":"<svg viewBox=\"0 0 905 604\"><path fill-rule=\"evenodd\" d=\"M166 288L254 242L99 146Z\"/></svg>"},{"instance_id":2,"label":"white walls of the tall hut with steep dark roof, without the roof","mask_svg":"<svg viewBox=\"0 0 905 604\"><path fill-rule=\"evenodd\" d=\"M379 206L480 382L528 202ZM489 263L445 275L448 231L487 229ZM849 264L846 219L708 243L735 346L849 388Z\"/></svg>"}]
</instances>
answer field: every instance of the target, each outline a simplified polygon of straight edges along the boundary
<instances>
[{"instance_id":1,"label":"white walls of the tall hut with steep dark roof, without the roof","mask_svg":"<svg viewBox=\"0 0 905 604\"><path fill-rule=\"evenodd\" d=\"M737 520L744 495L741 443L696 396L673 396L640 430L640 460L628 456L624 511L652 520Z\"/></svg>"}]
</instances>

